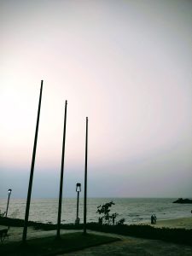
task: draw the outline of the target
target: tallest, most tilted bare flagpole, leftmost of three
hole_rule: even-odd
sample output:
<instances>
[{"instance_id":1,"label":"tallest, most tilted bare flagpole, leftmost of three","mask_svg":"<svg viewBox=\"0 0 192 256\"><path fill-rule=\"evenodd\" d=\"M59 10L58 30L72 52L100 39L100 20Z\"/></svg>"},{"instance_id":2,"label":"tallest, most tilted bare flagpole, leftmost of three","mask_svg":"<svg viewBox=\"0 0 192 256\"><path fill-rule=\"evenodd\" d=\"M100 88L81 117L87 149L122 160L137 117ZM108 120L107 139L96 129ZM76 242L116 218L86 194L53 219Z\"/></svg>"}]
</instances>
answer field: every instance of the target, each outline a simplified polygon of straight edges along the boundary
<instances>
[{"instance_id":1,"label":"tallest, most tilted bare flagpole, leftmost of three","mask_svg":"<svg viewBox=\"0 0 192 256\"><path fill-rule=\"evenodd\" d=\"M37 142L38 142L38 124L39 124L39 117L40 117L40 110L41 110L41 97L42 97L43 83L44 83L44 81L41 80L41 89L40 89L40 96L39 96L39 102L38 102L38 117L37 117L35 139L34 139L33 152L32 152L32 166L31 166L31 173L30 173L30 178L29 178L28 194L27 194L27 199L26 199L26 215L25 215L23 237L22 237L23 242L26 241L26 232L27 232L27 225L28 225L28 218L29 218L29 208L30 208L31 195L32 195L32 178L33 178L36 148L37 148Z\"/></svg>"}]
</instances>

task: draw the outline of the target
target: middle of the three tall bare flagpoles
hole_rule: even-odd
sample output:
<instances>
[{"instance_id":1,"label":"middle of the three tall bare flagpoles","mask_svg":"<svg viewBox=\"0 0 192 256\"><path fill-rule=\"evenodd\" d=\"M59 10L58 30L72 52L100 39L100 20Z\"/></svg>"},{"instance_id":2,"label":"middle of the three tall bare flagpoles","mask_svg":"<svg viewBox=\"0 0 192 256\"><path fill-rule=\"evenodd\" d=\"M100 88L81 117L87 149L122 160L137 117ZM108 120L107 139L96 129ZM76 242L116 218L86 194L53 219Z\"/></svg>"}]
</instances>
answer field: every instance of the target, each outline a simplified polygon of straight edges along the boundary
<instances>
[{"instance_id":1,"label":"middle of the three tall bare flagpoles","mask_svg":"<svg viewBox=\"0 0 192 256\"><path fill-rule=\"evenodd\" d=\"M66 122L67 122L67 101L65 106L64 128L63 128L63 141L62 141L62 156L61 156L61 178L60 178L60 194L57 218L57 232L56 238L60 239L61 229L61 204L62 204L62 186L63 186L63 172L64 172L64 157L65 157L65 144L66 144Z\"/></svg>"}]
</instances>

